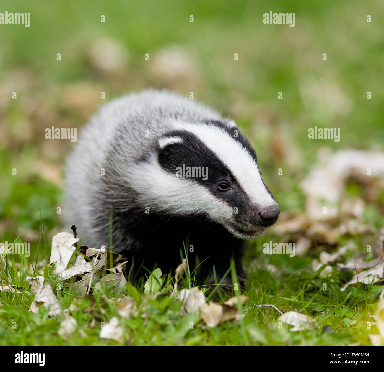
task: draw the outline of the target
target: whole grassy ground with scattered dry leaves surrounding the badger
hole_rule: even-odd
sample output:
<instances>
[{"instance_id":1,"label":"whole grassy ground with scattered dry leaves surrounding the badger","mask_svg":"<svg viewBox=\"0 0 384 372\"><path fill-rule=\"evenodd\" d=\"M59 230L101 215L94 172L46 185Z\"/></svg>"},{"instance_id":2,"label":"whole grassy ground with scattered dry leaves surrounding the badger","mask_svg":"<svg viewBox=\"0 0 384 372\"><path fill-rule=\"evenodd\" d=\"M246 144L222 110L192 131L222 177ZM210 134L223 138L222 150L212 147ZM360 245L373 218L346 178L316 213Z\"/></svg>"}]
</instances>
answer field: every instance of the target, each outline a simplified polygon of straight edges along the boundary
<instances>
[{"instance_id":1,"label":"whole grassy ground with scattered dry leaves surrounding the badger","mask_svg":"<svg viewBox=\"0 0 384 372\"><path fill-rule=\"evenodd\" d=\"M295 12L295 27L263 24L270 10ZM39 0L10 3L8 11L31 12L31 26L2 25L0 33L0 243L30 243L31 254L0 252L0 344L382 342L376 336L383 335L378 303L384 289L381 2L95 1L89 8L86 2ZM116 274L110 265L95 271L94 285L82 297L65 284L86 274L63 280L57 261L50 265L52 238L71 233L61 203L63 164L73 143L45 139L45 129L76 127L81 135L104 102L149 87L194 92L195 100L231 116L255 146L282 213L275 228L248 244L245 289L208 287L188 267L179 280L175 272L164 273L161 284L155 281L156 293L147 293L151 279L132 281L129 275L118 293L108 280L95 290L101 278ZM340 128L340 141L309 139L315 126ZM295 243L295 255L267 254L270 242ZM183 242L180 251L181 263L190 253ZM228 275L236 284L230 268ZM36 277L43 279L30 279ZM35 301L36 293L44 299L47 284L48 298L60 305L55 315ZM188 292L194 287L210 310L200 292ZM188 312L191 293L201 306ZM275 308L253 305L274 305L315 323L305 318L308 326L291 331L295 325L279 320ZM228 320L209 323L211 310L214 320L227 311ZM300 316L293 319L288 323ZM114 336L101 338L102 329Z\"/></svg>"}]
</instances>

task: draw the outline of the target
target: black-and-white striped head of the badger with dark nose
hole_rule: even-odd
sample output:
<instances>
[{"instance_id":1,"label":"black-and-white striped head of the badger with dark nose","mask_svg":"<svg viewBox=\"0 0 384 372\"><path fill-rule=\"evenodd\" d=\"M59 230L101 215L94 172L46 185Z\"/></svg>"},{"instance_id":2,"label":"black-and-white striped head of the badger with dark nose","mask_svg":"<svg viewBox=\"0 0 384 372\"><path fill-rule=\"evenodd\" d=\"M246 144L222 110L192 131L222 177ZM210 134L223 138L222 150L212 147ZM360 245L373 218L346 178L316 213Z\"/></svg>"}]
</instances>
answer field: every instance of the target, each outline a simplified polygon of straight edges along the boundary
<instances>
[{"instance_id":1,"label":"black-and-white striped head of the badger with dark nose","mask_svg":"<svg viewBox=\"0 0 384 372\"><path fill-rule=\"evenodd\" d=\"M233 122L175 126L157 139L152 161L140 182L155 209L209 218L241 239L261 235L280 214Z\"/></svg>"}]
</instances>

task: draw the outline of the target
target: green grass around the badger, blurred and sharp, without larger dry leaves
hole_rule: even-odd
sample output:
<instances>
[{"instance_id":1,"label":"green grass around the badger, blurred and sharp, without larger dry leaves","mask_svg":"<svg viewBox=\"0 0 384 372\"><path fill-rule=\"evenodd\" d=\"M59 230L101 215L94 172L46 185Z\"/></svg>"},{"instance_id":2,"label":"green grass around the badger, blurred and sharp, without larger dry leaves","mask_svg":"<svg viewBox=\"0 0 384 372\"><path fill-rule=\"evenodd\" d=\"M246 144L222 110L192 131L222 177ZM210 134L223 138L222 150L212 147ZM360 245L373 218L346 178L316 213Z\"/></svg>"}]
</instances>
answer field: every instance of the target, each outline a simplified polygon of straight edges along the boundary
<instances>
[{"instance_id":1,"label":"green grass around the badger, blurred and sharp, without larger dry leaves","mask_svg":"<svg viewBox=\"0 0 384 372\"><path fill-rule=\"evenodd\" d=\"M231 116L255 146L263 179L282 211L305 210L300 182L314 166L319 149L384 149L384 7L379 0L145 0L140 5L94 1L91 7L83 1L3 3L1 11L30 12L31 27L0 25L0 242L31 243L33 264L49 257L52 236L63 230L58 207L64 159L72 145L45 140L44 129L55 125L80 131L103 103L131 91L148 87L183 95L193 91L196 101ZM262 15L270 10L295 12L296 26L263 25ZM367 14L371 23L366 22ZM100 22L101 15L106 15L106 23ZM194 23L189 15L194 15ZM103 37L129 55L118 74L92 65L89 46ZM163 79L156 57L170 46L182 50L194 72ZM56 53L61 53L60 62ZM144 61L145 53L150 53L151 61ZM239 54L237 62L234 53ZM321 60L323 53L327 61ZM106 100L100 99L101 91ZM277 98L280 91L282 100ZM367 91L372 92L371 100L366 99ZM341 141L309 140L308 128L315 125L340 128ZM14 168L17 175L12 174ZM283 176L277 175L279 168ZM362 190L349 184L346 192L361 197ZM364 223L383 226L383 205L384 191L366 205ZM367 335L377 331L366 323L372 321L383 286L359 284L341 292L351 273L338 272L335 266L326 277L313 273L313 259L323 249L332 251L332 246L315 247L305 257L262 253L263 243L281 238L269 233L249 244L244 264L250 285L243 308L273 304L283 312L303 312L316 318L317 330L293 333L286 326L279 328L279 314L271 308L247 310L240 322L207 329L199 316L179 313L181 304L169 297L167 285L164 296L147 298L142 279L133 284L139 293L139 316L123 321L124 343L369 344ZM362 252L373 237L340 236L336 245L349 240ZM28 263L17 255L8 255L7 260ZM285 272L270 272L268 265ZM45 266L40 274L41 270L61 306L68 308L74 294L58 290L51 268ZM28 288L25 277L36 274L37 269L18 272L13 265L0 269L0 285ZM179 289L193 285L190 275ZM101 322L118 316L116 304L106 300L108 291L103 297L81 300L73 316L87 337L77 331L67 340L57 334L62 319L48 318L43 307L38 314L30 313L33 295L22 292L0 293L0 344L116 343L98 337ZM128 290L126 294L132 295ZM217 289L210 299L222 302L237 294ZM149 316L142 317L143 312ZM190 321L194 329L189 328ZM326 333L324 326L336 332Z\"/></svg>"}]
</instances>

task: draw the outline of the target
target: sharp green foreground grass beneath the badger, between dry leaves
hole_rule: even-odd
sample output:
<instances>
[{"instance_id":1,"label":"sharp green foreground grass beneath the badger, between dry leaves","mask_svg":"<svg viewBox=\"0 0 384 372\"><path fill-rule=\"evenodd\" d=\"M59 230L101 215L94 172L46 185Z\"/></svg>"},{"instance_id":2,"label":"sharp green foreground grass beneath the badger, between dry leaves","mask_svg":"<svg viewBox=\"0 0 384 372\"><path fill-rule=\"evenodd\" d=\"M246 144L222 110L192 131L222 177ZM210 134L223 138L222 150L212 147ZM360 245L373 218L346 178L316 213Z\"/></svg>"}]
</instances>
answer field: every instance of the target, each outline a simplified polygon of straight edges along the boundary
<instances>
[{"instance_id":1,"label":"sharp green foreground grass beneath the badger, between dry leaves","mask_svg":"<svg viewBox=\"0 0 384 372\"><path fill-rule=\"evenodd\" d=\"M266 238L265 238L266 240ZM42 243L40 243L42 246ZM49 246L49 244L46 244ZM41 250L43 251L43 249ZM40 257L43 256L40 252ZM161 295L153 297L144 294L144 278L133 285L129 283L122 295L136 298L138 313L131 319L121 318L117 312L118 303L114 300L112 288L104 288L94 296L75 300L76 295L60 283L53 268L45 265L40 269L35 266L29 272L25 270L30 261L21 256L21 269L15 267L13 255L3 257L0 269L1 285L13 284L20 287L21 294L0 293L0 344L2 345L105 345L119 344L117 341L99 338L102 324L113 317L121 319L124 329L122 343L129 345L345 345L351 343L370 344L368 334L377 333L376 327L367 327L372 322L379 293L384 285L362 285L340 291L351 274L344 274L334 269L330 274L321 276L310 269L312 257L287 258L284 255L263 256L263 262L284 267L286 273L272 274L266 269L248 269L249 285L242 294L247 295L247 302L239 311L253 305L271 304L282 312L297 311L316 319L318 329L291 332L289 326L278 321L279 314L272 308L251 308L240 321L228 321L213 329L207 328L199 313L185 314L180 311L182 303L170 297L174 278L163 276ZM7 261L7 265L4 262ZM257 261L257 260L256 260ZM19 275L20 273L20 275ZM34 295L25 278L27 275L43 274L45 282L50 282L62 308L69 308L71 303L78 304L70 314L78 323L78 329L68 338L57 334L63 316L49 318L44 306L36 314L28 311ZM235 272L233 283L236 282ZM182 278L179 290L199 285L194 280L194 273ZM324 287L324 284L326 285ZM25 288L25 289L21 289ZM221 303L240 291L228 293L220 287L205 288L209 300ZM103 323L104 322L104 323ZM190 322L194 327L190 329ZM323 327L328 326L328 331ZM333 329L331 333L329 330Z\"/></svg>"}]
</instances>

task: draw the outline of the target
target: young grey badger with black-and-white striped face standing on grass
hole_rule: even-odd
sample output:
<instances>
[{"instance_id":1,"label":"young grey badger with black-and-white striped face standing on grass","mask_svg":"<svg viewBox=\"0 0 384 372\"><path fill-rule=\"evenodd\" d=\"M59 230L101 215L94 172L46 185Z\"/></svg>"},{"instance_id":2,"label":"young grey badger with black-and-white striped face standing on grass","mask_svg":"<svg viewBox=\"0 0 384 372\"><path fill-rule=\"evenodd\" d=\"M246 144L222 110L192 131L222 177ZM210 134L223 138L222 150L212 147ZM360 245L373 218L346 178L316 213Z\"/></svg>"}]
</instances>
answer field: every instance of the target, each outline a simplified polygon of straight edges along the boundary
<instances>
[{"instance_id":1,"label":"young grey badger with black-and-white striped face standing on grass","mask_svg":"<svg viewBox=\"0 0 384 372\"><path fill-rule=\"evenodd\" d=\"M82 129L66 162L64 211L84 244L111 236L137 273L169 272L186 252L209 284L233 259L243 286L245 241L280 214L235 122L156 90L113 100Z\"/></svg>"}]
</instances>

